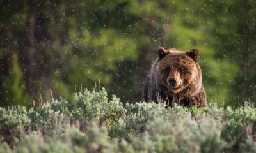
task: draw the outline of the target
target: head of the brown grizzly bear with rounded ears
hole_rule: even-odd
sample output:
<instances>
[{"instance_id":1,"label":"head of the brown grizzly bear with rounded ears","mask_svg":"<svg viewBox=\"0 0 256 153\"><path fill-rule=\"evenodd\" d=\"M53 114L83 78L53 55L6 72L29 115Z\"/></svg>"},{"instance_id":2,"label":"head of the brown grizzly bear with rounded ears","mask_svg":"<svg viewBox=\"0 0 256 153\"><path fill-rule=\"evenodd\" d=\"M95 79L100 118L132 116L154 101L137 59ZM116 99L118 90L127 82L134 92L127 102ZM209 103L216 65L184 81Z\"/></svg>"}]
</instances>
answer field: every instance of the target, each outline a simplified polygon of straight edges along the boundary
<instances>
[{"instance_id":1,"label":"head of the brown grizzly bear with rounded ears","mask_svg":"<svg viewBox=\"0 0 256 153\"><path fill-rule=\"evenodd\" d=\"M161 83L173 93L178 93L196 81L198 74L198 50L192 48L188 52L176 49L158 49L158 75Z\"/></svg>"}]
</instances>

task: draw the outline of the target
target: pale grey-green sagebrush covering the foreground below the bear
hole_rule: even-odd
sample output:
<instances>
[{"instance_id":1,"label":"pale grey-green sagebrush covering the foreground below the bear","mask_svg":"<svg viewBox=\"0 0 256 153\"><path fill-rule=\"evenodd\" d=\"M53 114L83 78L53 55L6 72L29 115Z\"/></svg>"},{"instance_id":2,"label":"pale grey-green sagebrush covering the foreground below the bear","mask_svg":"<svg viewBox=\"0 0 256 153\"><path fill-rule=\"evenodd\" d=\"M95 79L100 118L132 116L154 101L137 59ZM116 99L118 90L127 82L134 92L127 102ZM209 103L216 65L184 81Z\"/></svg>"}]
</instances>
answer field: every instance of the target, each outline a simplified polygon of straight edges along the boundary
<instances>
[{"instance_id":1,"label":"pale grey-green sagebrush covering the foreground below the bear","mask_svg":"<svg viewBox=\"0 0 256 153\"><path fill-rule=\"evenodd\" d=\"M105 89L0 108L0 152L255 152L256 110L123 106Z\"/></svg>"}]
</instances>

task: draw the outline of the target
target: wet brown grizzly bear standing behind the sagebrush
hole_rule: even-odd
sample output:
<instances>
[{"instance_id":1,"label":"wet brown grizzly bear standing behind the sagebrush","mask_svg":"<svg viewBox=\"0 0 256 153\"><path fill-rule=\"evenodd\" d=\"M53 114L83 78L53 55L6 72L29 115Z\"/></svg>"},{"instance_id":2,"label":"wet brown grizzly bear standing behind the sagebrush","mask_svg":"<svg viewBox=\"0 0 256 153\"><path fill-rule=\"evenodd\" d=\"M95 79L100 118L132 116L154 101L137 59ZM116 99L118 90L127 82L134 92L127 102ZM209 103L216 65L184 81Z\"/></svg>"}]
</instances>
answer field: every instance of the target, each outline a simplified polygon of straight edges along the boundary
<instances>
[{"instance_id":1,"label":"wet brown grizzly bear standing behind the sagebrush","mask_svg":"<svg viewBox=\"0 0 256 153\"><path fill-rule=\"evenodd\" d=\"M163 47L158 48L158 58L150 69L144 100L191 107L207 106L202 73L198 65L199 52L192 48L188 52Z\"/></svg>"}]
</instances>

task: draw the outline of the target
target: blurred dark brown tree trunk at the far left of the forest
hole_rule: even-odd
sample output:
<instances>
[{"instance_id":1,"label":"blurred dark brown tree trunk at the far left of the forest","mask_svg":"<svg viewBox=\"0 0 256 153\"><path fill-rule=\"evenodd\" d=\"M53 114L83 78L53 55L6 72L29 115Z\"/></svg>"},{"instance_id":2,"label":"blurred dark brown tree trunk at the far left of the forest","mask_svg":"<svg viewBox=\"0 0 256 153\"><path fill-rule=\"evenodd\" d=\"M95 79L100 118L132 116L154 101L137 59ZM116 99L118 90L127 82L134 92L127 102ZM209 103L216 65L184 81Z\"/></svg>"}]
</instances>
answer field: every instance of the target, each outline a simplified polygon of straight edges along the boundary
<instances>
[{"instance_id":1,"label":"blurred dark brown tree trunk at the far left of the forest","mask_svg":"<svg viewBox=\"0 0 256 153\"><path fill-rule=\"evenodd\" d=\"M32 99L38 101L38 94L43 92L47 98L50 97L50 74L49 54L45 50L42 41L47 40L47 30L44 25L41 1L28 0L26 42L20 52L20 64L24 71L26 91ZM40 87L39 82L42 82Z\"/></svg>"}]
</instances>

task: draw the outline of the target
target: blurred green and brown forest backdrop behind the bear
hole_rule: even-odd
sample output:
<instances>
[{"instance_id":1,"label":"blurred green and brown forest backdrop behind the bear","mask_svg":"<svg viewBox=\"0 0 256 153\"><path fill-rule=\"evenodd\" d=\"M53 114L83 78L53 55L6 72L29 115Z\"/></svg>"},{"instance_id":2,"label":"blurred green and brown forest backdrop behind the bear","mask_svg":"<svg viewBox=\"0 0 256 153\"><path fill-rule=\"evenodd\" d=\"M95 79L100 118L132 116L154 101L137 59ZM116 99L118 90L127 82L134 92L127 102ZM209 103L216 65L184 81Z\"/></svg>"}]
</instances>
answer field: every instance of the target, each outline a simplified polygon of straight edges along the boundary
<instances>
[{"instance_id":1,"label":"blurred green and brown forest backdrop behind the bear","mask_svg":"<svg viewBox=\"0 0 256 153\"><path fill-rule=\"evenodd\" d=\"M100 80L141 100L157 47L197 47L208 101L256 100L256 1L0 0L0 106L71 100ZM98 84L98 83L97 83Z\"/></svg>"}]
</instances>

